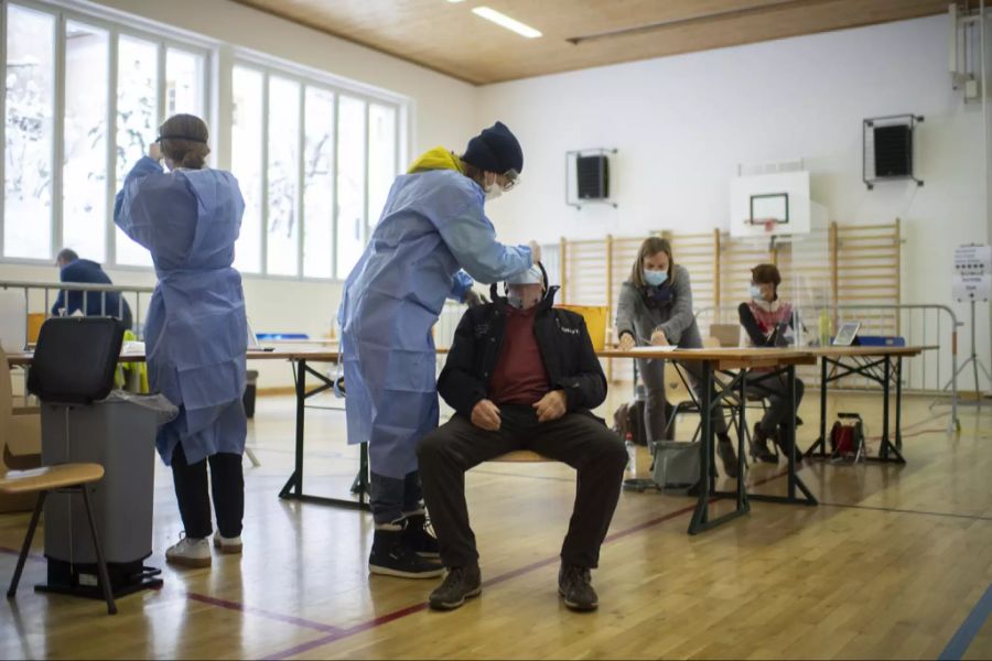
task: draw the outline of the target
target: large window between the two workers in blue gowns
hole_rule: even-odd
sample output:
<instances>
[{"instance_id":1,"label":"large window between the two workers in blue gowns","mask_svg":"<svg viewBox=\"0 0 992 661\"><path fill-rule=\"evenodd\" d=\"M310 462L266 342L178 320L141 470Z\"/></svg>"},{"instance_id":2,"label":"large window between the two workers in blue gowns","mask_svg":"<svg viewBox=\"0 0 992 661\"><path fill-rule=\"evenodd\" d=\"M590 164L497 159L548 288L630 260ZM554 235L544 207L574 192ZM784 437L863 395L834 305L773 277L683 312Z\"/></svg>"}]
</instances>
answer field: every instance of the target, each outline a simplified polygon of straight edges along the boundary
<instances>
[{"instance_id":1,"label":"large window between the two workers in blue gowns","mask_svg":"<svg viewBox=\"0 0 992 661\"><path fill-rule=\"evenodd\" d=\"M345 278L397 175L399 107L257 64L237 64L231 86L237 267Z\"/></svg>"}]
</instances>

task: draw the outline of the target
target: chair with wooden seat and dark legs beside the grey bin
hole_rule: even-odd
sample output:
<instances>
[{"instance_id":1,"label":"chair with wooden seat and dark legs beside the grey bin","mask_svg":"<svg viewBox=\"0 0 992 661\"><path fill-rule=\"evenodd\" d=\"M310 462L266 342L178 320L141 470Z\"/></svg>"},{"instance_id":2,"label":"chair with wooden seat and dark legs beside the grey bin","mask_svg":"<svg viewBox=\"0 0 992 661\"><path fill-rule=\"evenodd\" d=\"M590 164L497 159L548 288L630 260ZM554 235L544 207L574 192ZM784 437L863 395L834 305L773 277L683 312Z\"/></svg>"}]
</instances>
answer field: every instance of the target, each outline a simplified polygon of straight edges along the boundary
<instances>
[{"instance_id":1,"label":"chair with wooden seat and dark legs beside the grey bin","mask_svg":"<svg viewBox=\"0 0 992 661\"><path fill-rule=\"evenodd\" d=\"M93 511L89 508L89 494L86 491L86 485L99 481L103 477L104 467L99 464L61 464L58 466L43 466L32 470L12 470L0 474L0 491L4 494L37 494L37 502L34 506L34 513L31 514L28 535L24 538L24 545L21 548L20 557L18 557L18 567L14 570L13 581L10 582L10 589L7 590L7 598L12 599L18 592L18 583L21 581L21 572L24 570L24 561L28 560L28 552L31 550L31 540L34 539L34 531L37 528L37 520L41 518L45 498L50 491L58 490L83 495L86 518L89 520L89 532L93 535L93 548L97 556L100 587L104 590L104 599L107 602L107 613L109 615L117 613L114 593L110 589L107 563L104 560L100 539L97 534L96 523L93 520Z\"/></svg>"}]
</instances>

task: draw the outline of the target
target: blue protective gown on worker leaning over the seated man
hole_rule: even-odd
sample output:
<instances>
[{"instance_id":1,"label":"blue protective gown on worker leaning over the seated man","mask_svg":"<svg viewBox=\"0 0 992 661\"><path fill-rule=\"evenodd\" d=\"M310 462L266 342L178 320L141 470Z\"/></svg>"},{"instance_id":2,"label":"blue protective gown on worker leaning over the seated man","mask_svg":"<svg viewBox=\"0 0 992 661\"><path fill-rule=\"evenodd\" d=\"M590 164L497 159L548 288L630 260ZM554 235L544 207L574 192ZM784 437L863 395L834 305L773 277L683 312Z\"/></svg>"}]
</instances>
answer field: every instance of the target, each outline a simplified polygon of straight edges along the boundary
<instances>
[{"instance_id":1,"label":"blue protective gown on worker leaning over the seated man","mask_svg":"<svg viewBox=\"0 0 992 661\"><path fill-rule=\"evenodd\" d=\"M345 281L338 322L348 443L369 443L376 474L417 470L417 443L438 426L434 338L444 300L472 278L492 283L531 266L504 246L482 188L456 170L397 177L371 240Z\"/></svg>"}]
</instances>

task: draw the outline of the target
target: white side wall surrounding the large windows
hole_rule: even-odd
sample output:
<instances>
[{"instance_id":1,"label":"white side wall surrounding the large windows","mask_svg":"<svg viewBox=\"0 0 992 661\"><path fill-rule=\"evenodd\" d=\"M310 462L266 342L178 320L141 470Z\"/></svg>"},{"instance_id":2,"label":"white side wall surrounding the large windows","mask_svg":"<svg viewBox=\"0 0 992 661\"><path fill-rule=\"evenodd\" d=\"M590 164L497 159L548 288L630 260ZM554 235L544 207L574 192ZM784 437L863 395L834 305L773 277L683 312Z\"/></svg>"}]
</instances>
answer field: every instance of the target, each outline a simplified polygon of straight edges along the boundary
<instances>
[{"instance_id":1,"label":"white side wall surrounding the large windows","mask_svg":"<svg viewBox=\"0 0 992 661\"><path fill-rule=\"evenodd\" d=\"M409 99L411 109L408 145L411 155L438 144L461 150L477 132L475 87L242 4L228 0L99 0L93 7L126 12L222 44L250 48L402 95ZM229 57L229 48L222 51L222 57ZM224 112L219 118L212 132L223 140L229 132L229 121L225 120ZM227 165L223 158L218 164ZM155 282L154 274L148 271L109 270L108 273L118 284L151 286ZM54 267L0 263L0 280L54 282L57 279ZM246 275L245 296L248 315L258 332L325 336L337 312L341 285ZM289 368L283 365L267 364L261 371L260 388L292 383Z\"/></svg>"}]
</instances>

